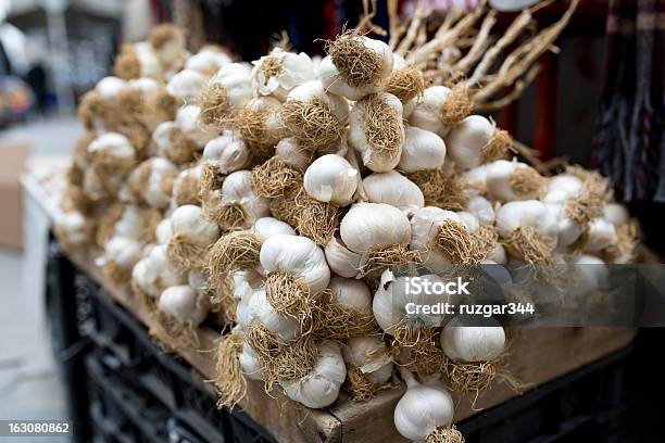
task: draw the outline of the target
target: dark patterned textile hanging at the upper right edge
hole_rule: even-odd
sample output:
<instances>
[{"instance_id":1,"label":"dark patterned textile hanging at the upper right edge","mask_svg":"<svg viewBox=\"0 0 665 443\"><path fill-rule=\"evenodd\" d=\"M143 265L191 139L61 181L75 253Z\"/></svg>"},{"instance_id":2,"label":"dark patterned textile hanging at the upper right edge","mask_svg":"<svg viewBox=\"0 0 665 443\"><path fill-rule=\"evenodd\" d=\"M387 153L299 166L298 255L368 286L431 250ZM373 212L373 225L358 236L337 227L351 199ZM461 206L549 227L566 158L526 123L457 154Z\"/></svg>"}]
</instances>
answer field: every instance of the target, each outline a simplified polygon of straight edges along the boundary
<instances>
[{"instance_id":1,"label":"dark patterned textile hanging at the upper right edge","mask_svg":"<svg viewBox=\"0 0 665 443\"><path fill-rule=\"evenodd\" d=\"M593 156L626 201L665 202L665 0L613 0Z\"/></svg>"}]
</instances>

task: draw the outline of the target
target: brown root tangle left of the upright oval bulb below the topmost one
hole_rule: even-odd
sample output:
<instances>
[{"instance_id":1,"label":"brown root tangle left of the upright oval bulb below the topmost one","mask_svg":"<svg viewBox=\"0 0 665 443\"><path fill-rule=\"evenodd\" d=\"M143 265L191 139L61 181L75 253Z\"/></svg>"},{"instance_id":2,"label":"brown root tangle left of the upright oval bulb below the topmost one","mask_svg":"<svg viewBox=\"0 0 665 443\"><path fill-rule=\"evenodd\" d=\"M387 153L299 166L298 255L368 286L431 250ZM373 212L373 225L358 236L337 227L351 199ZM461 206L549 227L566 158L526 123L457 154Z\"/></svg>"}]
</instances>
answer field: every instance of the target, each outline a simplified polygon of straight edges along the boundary
<instances>
[{"instance_id":1,"label":"brown root tangle left of the upright oval bulb below the topmost one","mask_svg":"<svg viewBox=\"0 0 665 443\"><path fill-rule=\"evenodd\" d=\"M281 106L281 121L299 142L312 151L329 147L342 135L342 126L322 99L309 102L287 100Z\"/></svg>"}]
</instances>

